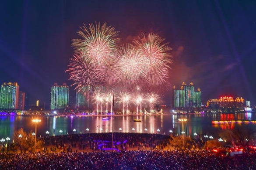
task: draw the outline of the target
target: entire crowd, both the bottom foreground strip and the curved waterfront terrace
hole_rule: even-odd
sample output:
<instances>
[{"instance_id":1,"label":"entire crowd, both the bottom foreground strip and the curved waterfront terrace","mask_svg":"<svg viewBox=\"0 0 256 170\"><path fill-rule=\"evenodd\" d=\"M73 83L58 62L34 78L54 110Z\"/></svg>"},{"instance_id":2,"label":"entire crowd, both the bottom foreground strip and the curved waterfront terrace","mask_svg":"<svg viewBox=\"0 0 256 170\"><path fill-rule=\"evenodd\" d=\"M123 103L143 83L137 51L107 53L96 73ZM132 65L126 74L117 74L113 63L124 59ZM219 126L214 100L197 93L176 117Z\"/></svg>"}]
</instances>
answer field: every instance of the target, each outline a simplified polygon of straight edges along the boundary
<instances>
[{"instance_id":1,"label":"entire crowd, both the bottom foreground strip and the curved waterfront terrace","mask_svg":"<svg viewBox=\"0 0 256 170\"><path fill-rule=\"evenodd\" d=\"M221 156L210 150L169 150L168 135L85 133L50 136L37 152L2 152L0 170L256 169L256 153ZM111 149L112 148L112 149Z\"/></svg>"}]
</instances>

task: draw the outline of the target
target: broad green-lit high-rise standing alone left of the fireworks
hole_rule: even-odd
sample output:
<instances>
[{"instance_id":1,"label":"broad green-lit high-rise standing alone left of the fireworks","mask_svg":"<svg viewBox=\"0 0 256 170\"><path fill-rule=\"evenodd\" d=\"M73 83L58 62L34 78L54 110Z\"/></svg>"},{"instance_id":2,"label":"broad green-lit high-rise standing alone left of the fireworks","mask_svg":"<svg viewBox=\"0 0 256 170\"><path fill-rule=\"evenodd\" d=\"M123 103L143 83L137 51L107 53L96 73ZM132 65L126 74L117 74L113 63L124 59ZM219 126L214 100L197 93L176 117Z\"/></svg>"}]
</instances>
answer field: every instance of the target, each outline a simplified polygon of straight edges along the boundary
<instances>
[{"instance_id":1,"label":"broad green-lit high-rise standing alone left of the fireworks","mask_svg":"<svg viewBox=\"0 0 256 170\"><path fill-rule=\"evenodd\" d=\"M69 102L69 87L64 83L57 85L54 83L51 91L51 109L64 109Z\"/></svg>"}]
</instances>

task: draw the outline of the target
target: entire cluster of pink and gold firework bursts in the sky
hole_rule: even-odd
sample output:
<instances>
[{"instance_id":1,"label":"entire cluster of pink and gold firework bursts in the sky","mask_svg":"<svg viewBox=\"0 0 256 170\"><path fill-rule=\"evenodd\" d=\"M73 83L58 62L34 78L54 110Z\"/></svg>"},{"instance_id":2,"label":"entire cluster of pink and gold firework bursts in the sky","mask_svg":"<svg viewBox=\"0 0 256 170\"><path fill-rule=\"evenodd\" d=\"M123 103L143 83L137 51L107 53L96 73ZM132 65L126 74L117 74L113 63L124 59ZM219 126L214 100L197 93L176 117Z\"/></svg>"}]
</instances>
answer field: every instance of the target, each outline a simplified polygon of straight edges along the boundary
<instances>
[{"instance_id":1,"label":"entire cluster of pink and gold firework bursts in the sky","mask_svg":"<svg viewBox=\"0 0 256 170\"><path fill-rule=\"evenodd\" d=\"M87 94L104 86L105 91L119 89L117 94L133 94L136 86L147 92L168 84L172 49L158 34L141 34L132 44L119 45L118 31L106 23L80 28L77 34L81 39L73 40L75 54L67 70L79 92Z\"/></svg>"}]
</instances>

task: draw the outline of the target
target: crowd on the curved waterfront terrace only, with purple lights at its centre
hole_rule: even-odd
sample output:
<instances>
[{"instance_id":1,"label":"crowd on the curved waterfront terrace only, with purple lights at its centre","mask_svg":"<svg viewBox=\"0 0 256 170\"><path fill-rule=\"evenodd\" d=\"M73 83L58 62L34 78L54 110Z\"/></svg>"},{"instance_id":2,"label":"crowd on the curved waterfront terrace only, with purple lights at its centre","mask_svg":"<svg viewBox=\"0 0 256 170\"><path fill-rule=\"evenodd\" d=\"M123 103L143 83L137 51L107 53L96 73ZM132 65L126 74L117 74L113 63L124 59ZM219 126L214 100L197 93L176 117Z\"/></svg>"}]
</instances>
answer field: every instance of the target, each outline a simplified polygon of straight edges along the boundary
<instances>
[{"instance_id":1,"label":"crowd on the curved waterfront terrace only, with purple lights at its centre","mask_svg":"<svg viewBox=\"0 0 256 170\"><path fill-rule=\"evenodd\" d=\"M149 133L114 133L113 147L118 150L164 149L170 136ZM97 151L112 148L112 133L84 133L51 136L44 139L47 151Z\"/></svg>"}]
</instances>

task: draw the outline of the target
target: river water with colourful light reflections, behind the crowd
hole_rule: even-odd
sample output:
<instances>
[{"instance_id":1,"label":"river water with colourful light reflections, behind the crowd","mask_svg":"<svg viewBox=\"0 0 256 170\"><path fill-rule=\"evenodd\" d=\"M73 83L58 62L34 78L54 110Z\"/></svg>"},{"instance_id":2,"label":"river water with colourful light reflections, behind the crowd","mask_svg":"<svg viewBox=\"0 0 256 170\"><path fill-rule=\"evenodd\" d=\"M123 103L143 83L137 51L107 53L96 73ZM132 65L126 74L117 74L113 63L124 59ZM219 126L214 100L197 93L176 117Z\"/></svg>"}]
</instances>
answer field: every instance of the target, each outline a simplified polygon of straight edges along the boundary
<instances>
[{"instance_id":1,"label":"river water with colourful light reflections, behind the crowd","mask_svg":"<svg viewBox=\"0 0 256 170\"><path fill-rule=\"evenodd\" d=\"M226 129L225 124L212 124L212 121L225 120L256 120L256 113L236 113L236 114L198 114L198 115L157 115L157 116L115 116L114 132L134 132L134 133L165 133L169 134L170 130L174 134L181 135L182 122L179 118L188 119L184 123L184 132L187 136L193 136L194 133L218 137L218 133ZM23 128L26 132L35 132L35 124L32 122L33 117L28 116L0 116L0 138L10 137L13 139L14 132ZM72 133L105 133L112 132L112 118L102 120L99 116L55 116L40 117L42 122L37 125L38 136L49 136L72 134ZM134 122L134 119L141 119L141 122ZM241 126L241 124L234 124ZM256 124L246 124L256 128ZM73 130L76 129L76 132ZM86 130L87 129L87 130ZM62 130L62 133L60 133Z\"/></svg>"}]
</instances>

